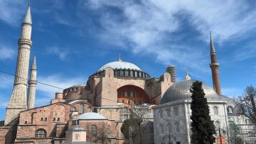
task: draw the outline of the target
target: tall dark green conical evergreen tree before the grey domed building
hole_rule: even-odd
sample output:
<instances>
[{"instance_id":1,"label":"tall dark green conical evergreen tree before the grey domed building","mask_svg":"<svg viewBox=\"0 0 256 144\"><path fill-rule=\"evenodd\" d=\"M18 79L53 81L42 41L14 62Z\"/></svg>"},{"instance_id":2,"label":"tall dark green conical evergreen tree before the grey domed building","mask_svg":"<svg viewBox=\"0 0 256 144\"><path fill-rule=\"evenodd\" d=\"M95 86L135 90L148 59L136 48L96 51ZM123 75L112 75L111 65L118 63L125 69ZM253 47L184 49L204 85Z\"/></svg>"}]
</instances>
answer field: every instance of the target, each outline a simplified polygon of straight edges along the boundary
<instances>
[{"instance_id":1,"label":"tall dark green conical evergreen tree before the grey domed building","mask_svg":"<svg viewBox=\"0 0 256 144\"><path fill-rule=\"evenodd\" d=\"M190 89L191 99L191 143L213 144L216 134L213 121L210 120L210 110L203 92L202 82L193 82Z\"/></svg>"}]
</instances>

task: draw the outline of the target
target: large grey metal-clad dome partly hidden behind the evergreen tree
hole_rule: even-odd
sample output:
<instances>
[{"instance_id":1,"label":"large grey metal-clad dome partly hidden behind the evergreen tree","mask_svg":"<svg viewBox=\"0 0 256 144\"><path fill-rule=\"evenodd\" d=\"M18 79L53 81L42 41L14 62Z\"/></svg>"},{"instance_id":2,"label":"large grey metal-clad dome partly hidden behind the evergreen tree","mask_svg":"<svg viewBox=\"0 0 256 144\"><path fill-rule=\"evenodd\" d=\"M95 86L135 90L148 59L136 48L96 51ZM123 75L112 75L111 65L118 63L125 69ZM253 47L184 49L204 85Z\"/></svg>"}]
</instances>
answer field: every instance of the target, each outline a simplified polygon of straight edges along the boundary
<instances>
[{"instance_id":1,"label":"large grey metal-clad dome partly hidden behind the evergreen tree","mask_svg":"<svg viewBox=\"0 0 256 144\"><path fill-rule=\"evenodd\" d=\"M169 103L172 101L191 99L191 92L189 89L191 89L193 82L196 82L196 80L186 79L169 87L161 99L161 104ZM218 96L218 94L206 83L202 82L202 87L208 100L221 100L221 96Z\"/></svg>"}]
</instances>

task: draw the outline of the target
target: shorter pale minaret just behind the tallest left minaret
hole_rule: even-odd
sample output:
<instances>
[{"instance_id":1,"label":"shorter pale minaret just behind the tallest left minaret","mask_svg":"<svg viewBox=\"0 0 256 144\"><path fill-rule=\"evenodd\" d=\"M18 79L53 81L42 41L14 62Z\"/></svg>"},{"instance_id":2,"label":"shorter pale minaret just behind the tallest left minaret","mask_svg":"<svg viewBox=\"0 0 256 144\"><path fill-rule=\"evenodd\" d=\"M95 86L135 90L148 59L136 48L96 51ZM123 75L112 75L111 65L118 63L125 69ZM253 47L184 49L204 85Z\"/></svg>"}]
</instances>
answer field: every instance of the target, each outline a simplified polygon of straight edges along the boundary
<instances>
[{"instance_id":1,"label":"shorter pale minaret just behind the tallest left minaret","mask_svg":"<svg viewBox=\"0 0 256 144\"><path fill-rule=\"evenodd\" d=\"M28 81L28 109L33 109L35 106L36 97L36 55L33 57L33 63L31 67L30 79Z\"/></svg>"}]
</instances>

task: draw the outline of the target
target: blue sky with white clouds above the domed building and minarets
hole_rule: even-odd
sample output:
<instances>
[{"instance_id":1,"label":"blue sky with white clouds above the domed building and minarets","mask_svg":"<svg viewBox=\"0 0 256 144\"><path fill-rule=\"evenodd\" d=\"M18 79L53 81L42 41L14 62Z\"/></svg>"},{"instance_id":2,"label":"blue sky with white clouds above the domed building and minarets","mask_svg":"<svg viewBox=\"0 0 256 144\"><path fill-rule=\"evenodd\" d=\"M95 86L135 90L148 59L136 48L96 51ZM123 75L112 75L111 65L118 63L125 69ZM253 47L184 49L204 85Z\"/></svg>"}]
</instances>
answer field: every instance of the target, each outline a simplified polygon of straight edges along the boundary
<instances>
[{"instance_id":1,"label":"blue sky with white clouds above the domed building and minarets","mask_svg":"<svg viewBox=\"0 0 256 144\"><path fill-rule=\"evenodd\" d=\"M102 65L132 62L151 77L176 65L178 80L212 86L209 32L212 31L224 95L238 96L256 78L255 1L32 1L31 60L38 81L66 88L85 84ZM28 1L0 0L0 70L14 74L17 40ZM14 77L0 73L0 120ZM60 89L38 84L36 106L49 104Z\"/></svg>"}]
</instances>

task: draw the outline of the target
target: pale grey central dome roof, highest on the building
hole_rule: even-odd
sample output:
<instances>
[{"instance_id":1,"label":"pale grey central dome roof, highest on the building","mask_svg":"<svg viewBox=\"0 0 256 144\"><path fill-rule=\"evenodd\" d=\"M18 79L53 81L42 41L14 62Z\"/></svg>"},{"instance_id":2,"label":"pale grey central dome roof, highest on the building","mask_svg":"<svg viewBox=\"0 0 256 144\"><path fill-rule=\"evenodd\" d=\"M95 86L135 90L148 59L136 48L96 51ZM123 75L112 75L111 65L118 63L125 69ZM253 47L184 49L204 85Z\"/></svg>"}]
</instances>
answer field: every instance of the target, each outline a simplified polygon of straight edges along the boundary
<instances>
[{"instance_id":1,"label":"pale grey central dome roof, highest on the building","mask_svg":"<svg viewBox=\"0 0 256 144\"><path fill-rule=\"evenodd\" d=\"M112 69L133 69L133 70L139 70L139 71L142 71L140 70L139 67L137 67L137 65L134 65L130 62L123 62L123 61L116 61L116 62L110 62L110 63L107 63L106 65L103 65L102 67L100 67L100 70L99 71L102 71L102 70L106 70L107 67L111 67Z\"/></svg>"}]
</instances>

